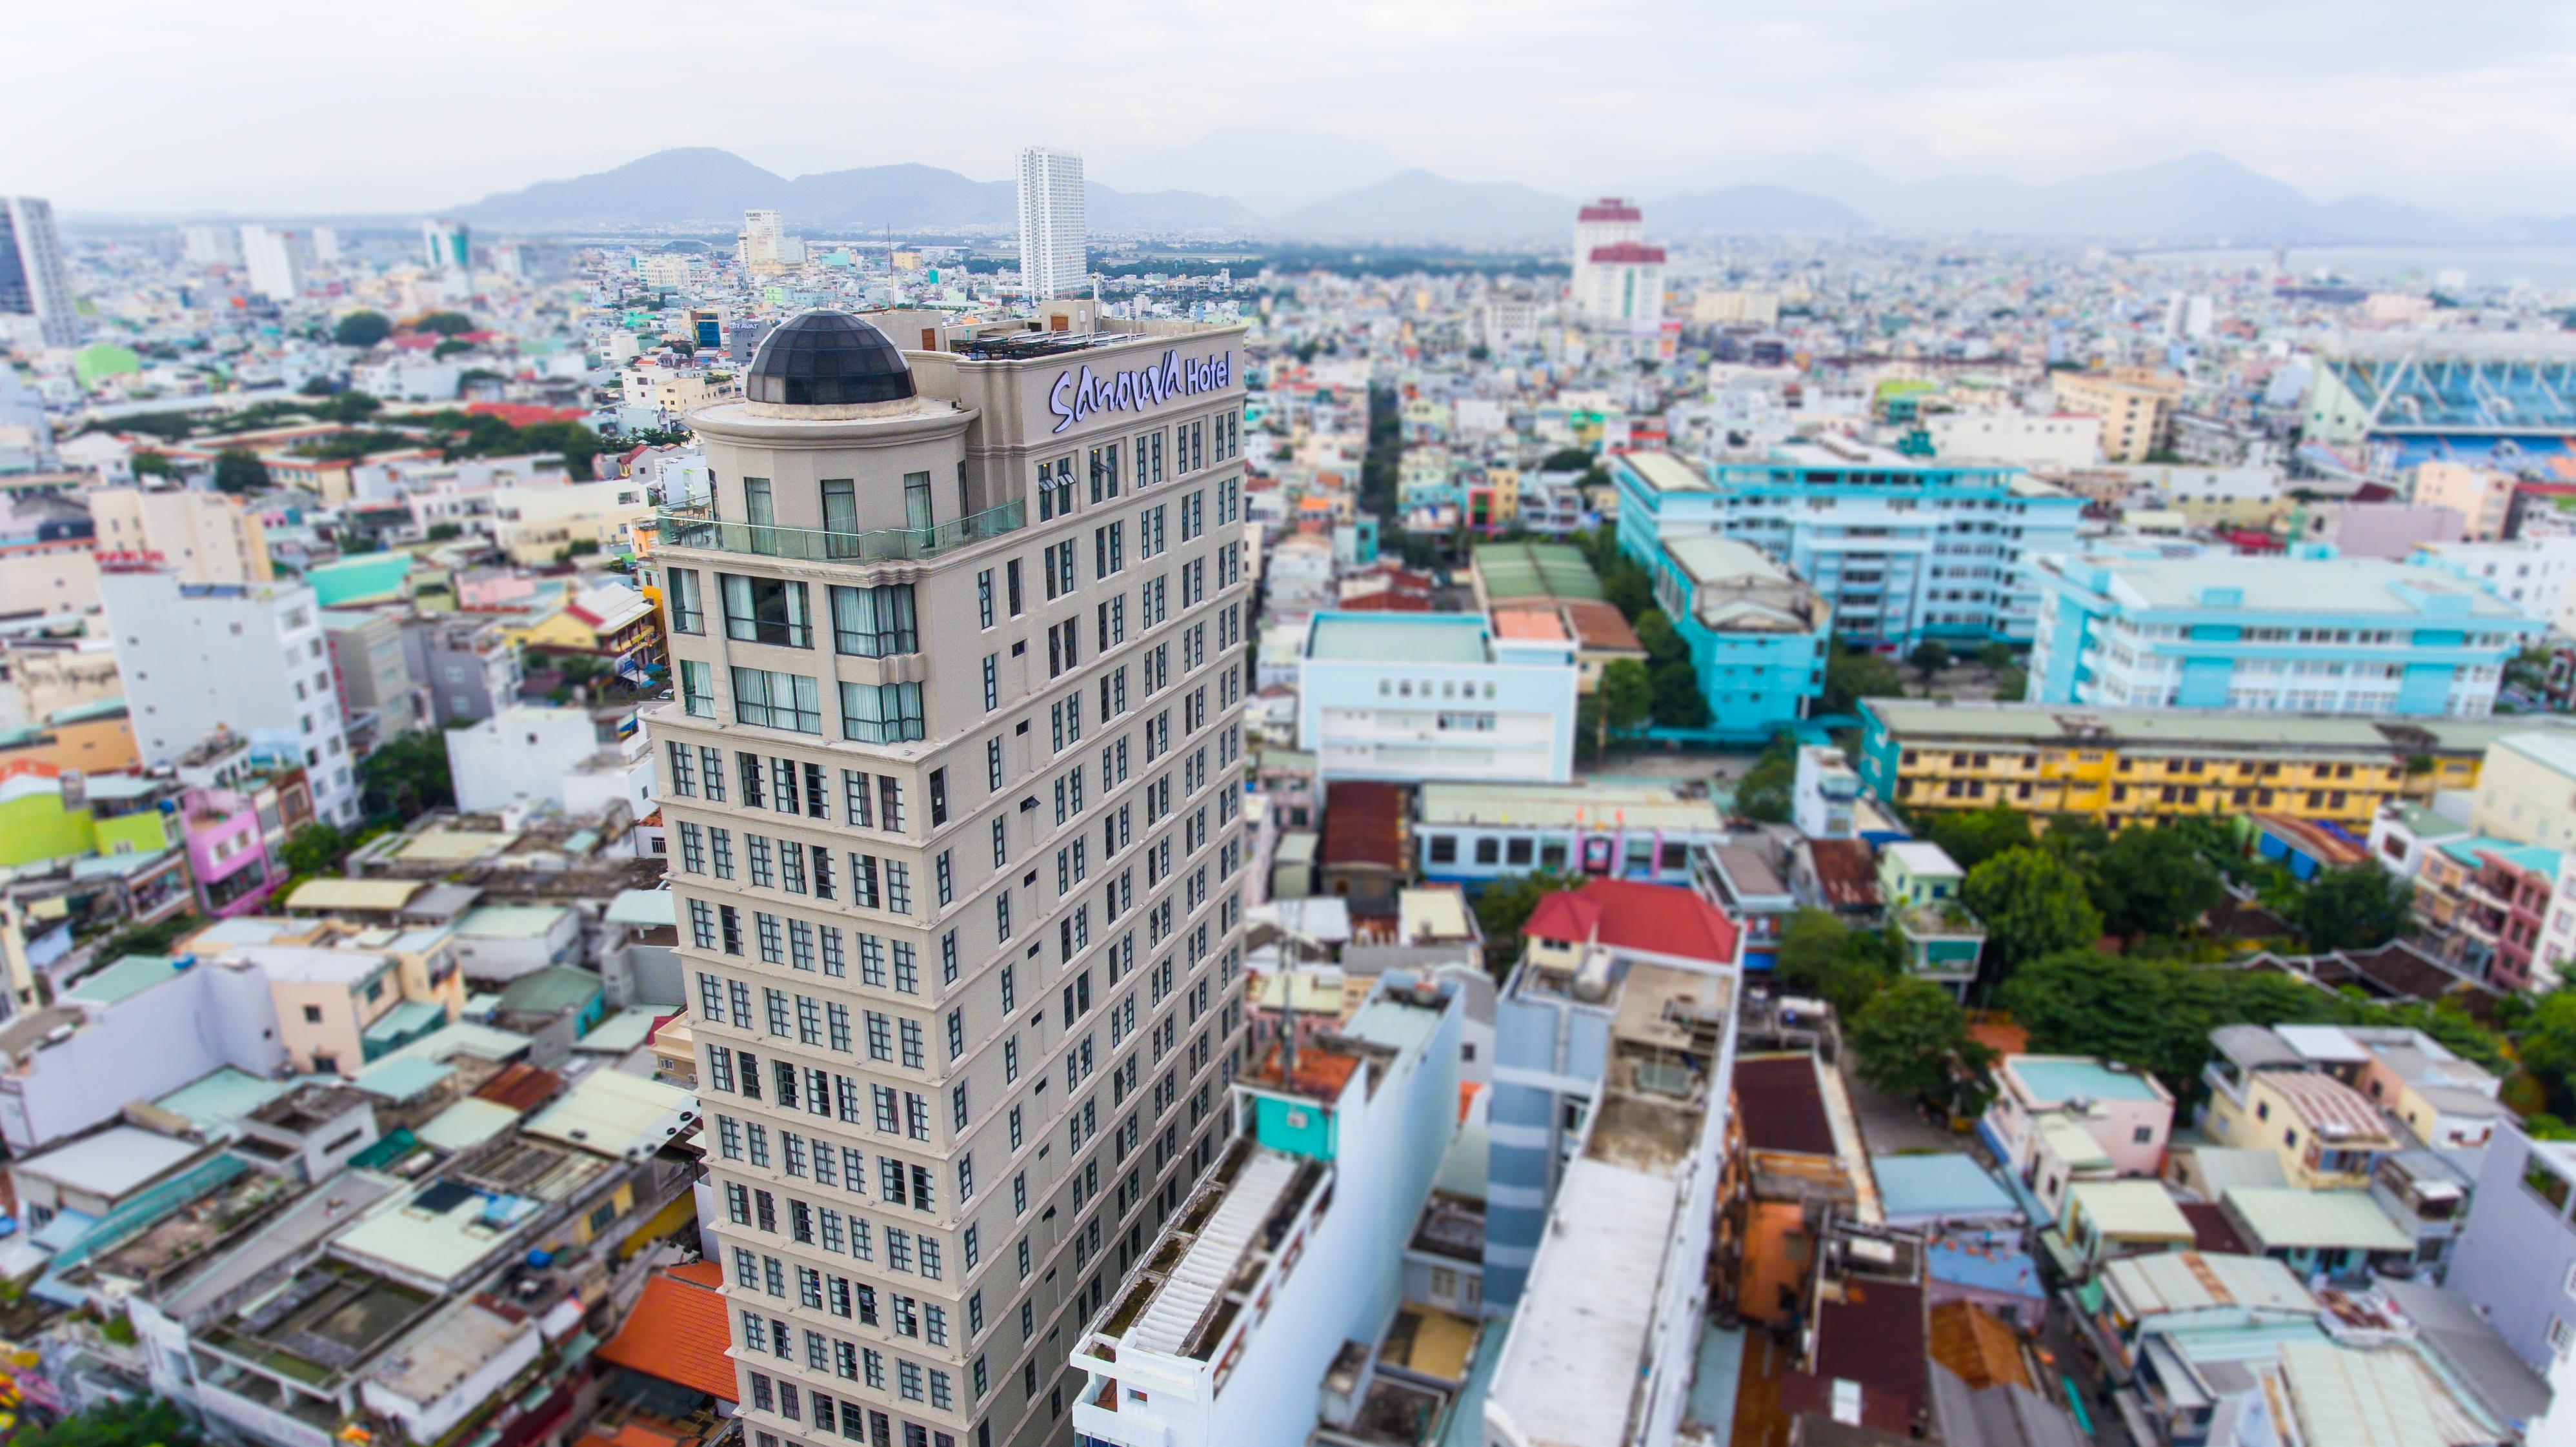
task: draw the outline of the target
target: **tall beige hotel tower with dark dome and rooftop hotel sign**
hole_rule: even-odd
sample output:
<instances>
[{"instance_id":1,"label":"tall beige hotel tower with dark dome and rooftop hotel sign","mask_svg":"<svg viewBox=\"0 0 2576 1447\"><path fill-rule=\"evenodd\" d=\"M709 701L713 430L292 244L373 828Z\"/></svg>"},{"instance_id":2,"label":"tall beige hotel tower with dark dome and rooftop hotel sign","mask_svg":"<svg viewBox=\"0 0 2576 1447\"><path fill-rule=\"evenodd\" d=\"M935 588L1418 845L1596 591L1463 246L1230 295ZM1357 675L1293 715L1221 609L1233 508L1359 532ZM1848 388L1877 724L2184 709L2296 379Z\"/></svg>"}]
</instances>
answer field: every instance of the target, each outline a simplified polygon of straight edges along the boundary
<instances>
[{"instance_id":1,"label":"tall beige hotel tower with dark dome and rooftop hotel sign","mask_svg":"<svg viewBox=\"0 0 2576 1447\"><path fill-rule=\"evenodd\" d=\"M737 1385L752 1447L1069 1442L1229 1130L1242 330L878 322L762 340L654 551Z\"/></svg>"}]
</instances>

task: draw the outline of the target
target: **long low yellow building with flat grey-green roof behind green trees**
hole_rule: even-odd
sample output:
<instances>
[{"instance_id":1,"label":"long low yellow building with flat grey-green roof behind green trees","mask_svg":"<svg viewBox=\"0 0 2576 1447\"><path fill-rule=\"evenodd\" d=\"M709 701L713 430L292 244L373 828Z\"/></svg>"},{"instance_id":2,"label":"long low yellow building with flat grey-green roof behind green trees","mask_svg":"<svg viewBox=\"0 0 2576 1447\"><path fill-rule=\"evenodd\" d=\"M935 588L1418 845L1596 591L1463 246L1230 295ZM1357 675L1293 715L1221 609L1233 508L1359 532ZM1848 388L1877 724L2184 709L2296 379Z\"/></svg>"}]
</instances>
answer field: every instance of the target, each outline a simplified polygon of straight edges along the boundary
<instances>
[{"instance_id":1,"label":"long low yellow building with flat grey-green roof behind green trees","mask_svg":"<svg viewBox=\"0 0 2576 1447\"><path fill-rule=\"evenodd\" d=\"M2476 788L2488 744L2535 721L1868 698L1862 724L1860 778L1904 808L2267 811L2360 834L2385 801Z\"/></svg>"}]
</instances>

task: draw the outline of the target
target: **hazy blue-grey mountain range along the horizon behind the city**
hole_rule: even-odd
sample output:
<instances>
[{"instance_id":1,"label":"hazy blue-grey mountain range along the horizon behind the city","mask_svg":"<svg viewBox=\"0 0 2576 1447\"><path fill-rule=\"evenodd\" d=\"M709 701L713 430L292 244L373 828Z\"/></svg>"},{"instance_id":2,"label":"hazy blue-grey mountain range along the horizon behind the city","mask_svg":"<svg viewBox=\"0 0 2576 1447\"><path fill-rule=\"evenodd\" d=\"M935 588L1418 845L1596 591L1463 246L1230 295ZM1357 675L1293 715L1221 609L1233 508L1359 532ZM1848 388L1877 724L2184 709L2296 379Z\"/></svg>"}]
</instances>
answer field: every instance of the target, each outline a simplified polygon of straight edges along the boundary
<instances>
[{"instance_id":1,"label":"hazy blue-grey mountain range along the horizon behind the city","mask_svg":"<svg viewBox=\"0 0 2576 1447\"><path fill-rule=\"evenodd\" d=\"M1229 165L1229 157L1231 165ZM1391 157L1332 136L1224 134L1149 152L1131 165L1151 180L1244 180L1270 206L1255 211L1203 191L1113 191L1090 183L1095 232L1234 232L1350 242L1558 242L1574 198L1520 183L1473 183L1396 170L1358 188L1321 191L1340 173L1368 175ZM1303 198L1301 198L1303 196ZM616 170L487 196L448 214L500 229L734 227L775 206L791 229L1010 227L1010 180L971 180L933 165L871 165L793 180L711 147L667 149ZM2045 185L1965 175L1891 180L1842 157L1772 157L1682 178L1646 193L1646 234L1989 234L2169 242L2568 242L2576 219L2463 221L2442 211L2354 196L2313 201L2221 154L2081 175Z\"/></svg>"}]
</instances>

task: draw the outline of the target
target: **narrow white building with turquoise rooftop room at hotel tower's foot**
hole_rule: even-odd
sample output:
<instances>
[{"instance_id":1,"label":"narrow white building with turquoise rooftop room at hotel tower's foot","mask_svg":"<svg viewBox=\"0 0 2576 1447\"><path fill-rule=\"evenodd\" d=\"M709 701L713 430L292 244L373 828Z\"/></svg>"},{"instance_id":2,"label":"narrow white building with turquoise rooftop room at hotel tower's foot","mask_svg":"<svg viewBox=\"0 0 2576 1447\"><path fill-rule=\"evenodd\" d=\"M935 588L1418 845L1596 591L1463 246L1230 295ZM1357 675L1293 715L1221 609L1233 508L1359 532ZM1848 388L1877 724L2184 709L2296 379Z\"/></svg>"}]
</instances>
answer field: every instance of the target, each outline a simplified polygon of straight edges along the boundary
<instances>
[{"instance_id":1,"label":"narrow white building with turquoise rooftop room at hotel tower's foot","mask_svg":"<svg viewBox=\"0 0 2576 1447\"><path fill-rule=\"evenodd\" d=\"M1425 994L1391 973L1342 1032L1234 1081L1218 1179L1074 1344L1084 1442L1291 1444L1319 1401L1327 1421L1358 1406L1337 1354L1406 1308L1406 1241L1458 1117L1461 989Z\"/></svg>"}]
</instances>

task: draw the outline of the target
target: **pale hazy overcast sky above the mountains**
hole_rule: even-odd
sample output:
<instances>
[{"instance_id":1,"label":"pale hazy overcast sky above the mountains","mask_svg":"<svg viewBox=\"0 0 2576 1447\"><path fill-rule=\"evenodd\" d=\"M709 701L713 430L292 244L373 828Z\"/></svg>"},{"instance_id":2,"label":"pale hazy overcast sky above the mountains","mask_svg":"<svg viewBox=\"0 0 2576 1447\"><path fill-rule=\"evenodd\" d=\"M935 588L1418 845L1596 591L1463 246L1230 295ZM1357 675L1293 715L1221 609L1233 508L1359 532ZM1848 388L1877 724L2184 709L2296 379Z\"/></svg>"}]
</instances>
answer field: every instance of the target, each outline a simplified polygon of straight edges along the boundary
<instances>
[{"instance_id":1,"label":"pale hazy overcast sky above the mountains","mask_svg":"<svg viewBox=\"0 0 2576 1447\"><path fill-rule=\"evenodd\" d=\"M1121 185L1224 126L1569 193L2215 149L2318 198L2576 211L2576 5L2550 0L54 0L5 33L0 191L75 211L430 211L680 144L1002 178L1048 142Z\"/></svg>"}]
</instances>

